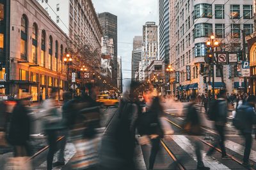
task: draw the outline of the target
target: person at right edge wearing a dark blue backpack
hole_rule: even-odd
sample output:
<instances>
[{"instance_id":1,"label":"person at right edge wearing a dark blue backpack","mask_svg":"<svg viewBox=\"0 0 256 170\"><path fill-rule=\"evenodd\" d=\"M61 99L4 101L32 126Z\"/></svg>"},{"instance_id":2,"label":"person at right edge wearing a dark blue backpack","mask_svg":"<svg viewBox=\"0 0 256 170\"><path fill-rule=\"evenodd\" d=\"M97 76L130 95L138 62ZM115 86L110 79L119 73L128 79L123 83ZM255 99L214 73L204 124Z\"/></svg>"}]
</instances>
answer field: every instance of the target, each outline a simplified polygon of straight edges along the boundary
<instances>
[{"instance_id":1,"label":"person at right edge wearing a dark blue backpack","mask_svg":"<svg viewBox=\"0 0 256 170\"><path fill-rule=\"evenodd\" d=\"M256 124L255 96L249 96L244 104L237 106L233 125L241 131L244 141L243 166L250 169L249 157L252 148L253 125Z\"/></svg>"}]
</instances>

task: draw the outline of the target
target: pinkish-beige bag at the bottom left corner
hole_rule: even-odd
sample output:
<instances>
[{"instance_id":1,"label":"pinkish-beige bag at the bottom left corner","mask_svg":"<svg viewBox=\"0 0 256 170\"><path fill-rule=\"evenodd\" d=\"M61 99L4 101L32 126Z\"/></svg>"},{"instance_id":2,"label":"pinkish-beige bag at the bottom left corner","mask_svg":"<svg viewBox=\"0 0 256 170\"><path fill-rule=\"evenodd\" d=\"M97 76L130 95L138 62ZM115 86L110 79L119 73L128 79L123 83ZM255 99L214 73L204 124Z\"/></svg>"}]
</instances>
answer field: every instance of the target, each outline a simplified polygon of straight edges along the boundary
<instances>
[{"instance_id":1,"label":"pinkish-beige bag at the bottom left corner","mask_svg":"<svg viewBox=\"0 0 256 170\"><path fill-rule=\"evenodd\" d=\"M10 157L4 167L4 170L32 170L32 164L29 157Z\"/></svg>"}]
</instances>

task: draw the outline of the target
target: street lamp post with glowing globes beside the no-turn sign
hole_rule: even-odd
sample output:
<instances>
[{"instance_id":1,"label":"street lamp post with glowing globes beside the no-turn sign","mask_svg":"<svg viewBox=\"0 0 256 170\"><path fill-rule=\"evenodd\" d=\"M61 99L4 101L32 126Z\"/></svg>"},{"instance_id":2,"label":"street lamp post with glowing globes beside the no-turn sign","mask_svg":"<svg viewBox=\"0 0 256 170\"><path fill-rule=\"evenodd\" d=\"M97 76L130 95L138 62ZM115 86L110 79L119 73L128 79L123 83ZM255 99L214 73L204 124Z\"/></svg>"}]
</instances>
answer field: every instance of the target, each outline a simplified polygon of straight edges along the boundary
<instances>
[{"instance_id":1,"label":"street lamp post with glowing globes beside the no-turn sign","mask_svg":"<svg viewBox=\"0 0 256 170\"><path fill-rule=\"evenodd\" d=\"M211 58L211 69L212 69L212 96L215 97L215 91L214 91L214 48L219 46L219 42L215 39L215 36L212 35L206 43L207 46L211 48L211 53L209 57ZM209 73L209 83L211 83L211 72ZM211 97L211 94L209 98Z\"/></svg>"}]
</instances>

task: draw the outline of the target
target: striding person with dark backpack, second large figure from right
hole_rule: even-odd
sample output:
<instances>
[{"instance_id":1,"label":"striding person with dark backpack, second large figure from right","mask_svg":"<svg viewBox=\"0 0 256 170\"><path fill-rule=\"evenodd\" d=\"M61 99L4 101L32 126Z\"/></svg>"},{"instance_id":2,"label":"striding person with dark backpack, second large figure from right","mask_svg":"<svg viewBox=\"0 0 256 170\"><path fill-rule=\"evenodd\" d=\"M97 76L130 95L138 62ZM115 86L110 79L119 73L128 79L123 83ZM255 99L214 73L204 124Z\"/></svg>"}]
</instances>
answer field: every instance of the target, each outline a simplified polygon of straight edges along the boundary
<instances>
[{"instance_id":1,"label":"striding person with dark backpack, second large figure from right","mask_svg":"<svg viewBox=\"0 0 256 170\"><path fill-rule=\"evenodd\" d=\"M218 138L215 140L215 147L210 148L207 155L212 155L216 146L220 145L222 159L230 159L225 149L225 126L227 124L228 114L227 100L225 99L227 97L226 93L226 90L220 90L218 99L216 101L212 101L209 108L209 118L214 121L214 127L218 132Z\"/></svg>"}]
</instances>

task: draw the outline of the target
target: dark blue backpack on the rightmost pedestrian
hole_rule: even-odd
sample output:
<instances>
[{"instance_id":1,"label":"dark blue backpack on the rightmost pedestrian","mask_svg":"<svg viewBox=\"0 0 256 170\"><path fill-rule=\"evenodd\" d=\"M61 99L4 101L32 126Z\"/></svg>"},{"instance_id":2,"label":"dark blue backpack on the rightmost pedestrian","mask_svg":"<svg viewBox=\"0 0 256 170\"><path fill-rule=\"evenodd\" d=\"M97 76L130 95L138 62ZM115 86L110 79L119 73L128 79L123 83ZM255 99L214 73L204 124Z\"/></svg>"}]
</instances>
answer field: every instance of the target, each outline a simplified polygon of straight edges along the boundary
<instances>
[{"instance_id":1,"label":"dark blue backpack on the rightmost pedestrian","mask_svg":"<svg viewBox=\"0 0 256 170\"><path fill-rule=\"evenodd\" d=\"M234 125L234 127L236 127L236 129L243 131L244 127L246 126L246 109L248 108L248 106L241 106L239 108L237 108L236 110L236 115L232 120L232 123Z\"/></svg>"}]
</instances>

